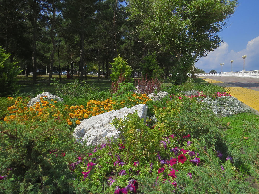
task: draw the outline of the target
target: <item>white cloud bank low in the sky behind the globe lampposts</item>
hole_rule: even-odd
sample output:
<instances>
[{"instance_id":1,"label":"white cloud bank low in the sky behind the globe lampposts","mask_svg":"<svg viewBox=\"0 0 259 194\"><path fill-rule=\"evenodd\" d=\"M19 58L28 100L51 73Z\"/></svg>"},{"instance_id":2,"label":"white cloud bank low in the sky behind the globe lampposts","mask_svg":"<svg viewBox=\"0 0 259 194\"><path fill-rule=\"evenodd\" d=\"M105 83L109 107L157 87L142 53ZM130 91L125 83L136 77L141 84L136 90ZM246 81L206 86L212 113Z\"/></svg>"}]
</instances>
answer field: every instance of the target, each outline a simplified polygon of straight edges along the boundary
<instances>
[{"instance_id":1,"label":"white cloud bank low in the sky behind the globe lampposts","mask_svg":"<svg viewBox=\"0 0 259 194\"><path fill-rule=\"evenodd\" d=\"M210 52L206 57L202 57L195 64L199 69L204 69L209 72L214 69L217 72L221 71L220 63L224 63L223 72L231 71L231 60L233 62L233 71L242 71L244 60L243 55L247 55L245 59L246 70L259 69L259 36L248 41L246 48L241 51L229 51L229 45L226 42L221 43L220 47Z\"/></svg>"}]
</instances>

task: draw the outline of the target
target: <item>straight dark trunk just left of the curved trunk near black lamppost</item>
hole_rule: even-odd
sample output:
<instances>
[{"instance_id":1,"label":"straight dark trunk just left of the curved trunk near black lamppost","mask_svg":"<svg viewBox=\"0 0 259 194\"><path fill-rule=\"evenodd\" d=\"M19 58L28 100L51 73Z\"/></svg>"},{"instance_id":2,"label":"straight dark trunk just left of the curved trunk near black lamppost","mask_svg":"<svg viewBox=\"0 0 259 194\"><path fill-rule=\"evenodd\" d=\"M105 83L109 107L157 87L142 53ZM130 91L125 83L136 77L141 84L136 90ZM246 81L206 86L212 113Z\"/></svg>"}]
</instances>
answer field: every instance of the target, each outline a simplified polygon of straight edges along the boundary
<instances>
[{"instance_id":1,"label":"straight dark trunk just left of the curved trunk near black lamppost","mask_svg":"<svg viewBox=\"0 0 259 194\"><path fill-rule=\"evenodd\" d=\"M33 40L32 40L32 84L37 84L36 33L37 33L37 1L34 0Z\"/></svg>"}]
</instances>

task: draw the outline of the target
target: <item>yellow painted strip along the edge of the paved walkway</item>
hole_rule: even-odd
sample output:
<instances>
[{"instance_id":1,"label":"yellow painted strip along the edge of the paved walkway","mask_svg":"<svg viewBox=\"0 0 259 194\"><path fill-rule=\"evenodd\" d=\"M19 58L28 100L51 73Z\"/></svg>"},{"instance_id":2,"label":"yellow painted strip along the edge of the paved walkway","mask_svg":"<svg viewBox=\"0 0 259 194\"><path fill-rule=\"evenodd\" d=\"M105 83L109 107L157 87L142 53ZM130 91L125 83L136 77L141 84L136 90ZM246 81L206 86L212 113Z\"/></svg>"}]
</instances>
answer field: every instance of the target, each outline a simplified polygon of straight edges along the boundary
<instances>
[{"instance_id":1,"label":"yellow painted strip along the edge of the paved walkway","mask_svg":"<svg viewBox=\"0 0 259 194\"><path fill-rule=\"evenodd\" d=\"M202 78L208 83L224 83L222 81L212 80L210 78ZM259 92L243 87L225 87L228 93L237 98L239 101L259 111Z\"/></svg>"}]
</instances>

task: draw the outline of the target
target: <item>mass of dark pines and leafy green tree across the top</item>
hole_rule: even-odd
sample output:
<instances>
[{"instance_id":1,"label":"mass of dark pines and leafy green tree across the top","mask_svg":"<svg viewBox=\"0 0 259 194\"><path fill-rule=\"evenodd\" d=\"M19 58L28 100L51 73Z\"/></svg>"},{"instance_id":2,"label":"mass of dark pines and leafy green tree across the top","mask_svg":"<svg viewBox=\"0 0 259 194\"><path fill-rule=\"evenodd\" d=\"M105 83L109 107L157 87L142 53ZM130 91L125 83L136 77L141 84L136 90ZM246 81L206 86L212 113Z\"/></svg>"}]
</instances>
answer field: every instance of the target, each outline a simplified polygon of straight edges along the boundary
<instances>
[{"instance_id":1,"label":"mass of dark pines and leafy green tree across the top","mask_svg":"<svg viewBox=\"0 0 259 194\"><path fill-rule=\"evenodd\" d=\"M0 2L0 46L10 53L11 62L19 62L25 76L34 72L34 84L36 69L59 70L58 39L61 70L79 70L80 80L83 71L93 70L86 64L96 64L108 79L118 52L133 71L141 72L149 60L145 57L152 53L154 60L148 56L156 63L154 71L171 73L181 84L199 57L220 45L217 33L237 4L236 0Z\"/></svg>"}]
</instances>

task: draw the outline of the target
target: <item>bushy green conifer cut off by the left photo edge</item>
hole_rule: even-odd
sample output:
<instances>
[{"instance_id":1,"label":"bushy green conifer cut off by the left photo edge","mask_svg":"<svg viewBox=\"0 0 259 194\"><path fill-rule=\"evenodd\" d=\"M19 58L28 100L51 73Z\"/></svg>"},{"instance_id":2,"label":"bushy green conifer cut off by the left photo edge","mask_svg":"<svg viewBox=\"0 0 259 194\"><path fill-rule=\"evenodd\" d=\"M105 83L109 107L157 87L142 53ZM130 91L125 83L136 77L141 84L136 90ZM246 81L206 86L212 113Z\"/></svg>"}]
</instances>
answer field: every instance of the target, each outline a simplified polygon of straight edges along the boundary
<instances>
[{"instance_id":1,"label":"bushy green conifer cut off by the left photo edge","mask_svg":"<svg viewBox=\"0 0 259 194\"><path fill-rule=\"evenodd\" d=\"M1 96L7 96L15 92L20 86L17 85L17 75L21 73L16 63L10 62L9 57L11 54L5 53L4 48L0 47L0 83L1 83Z\"/></svg>"}]
</instances>

